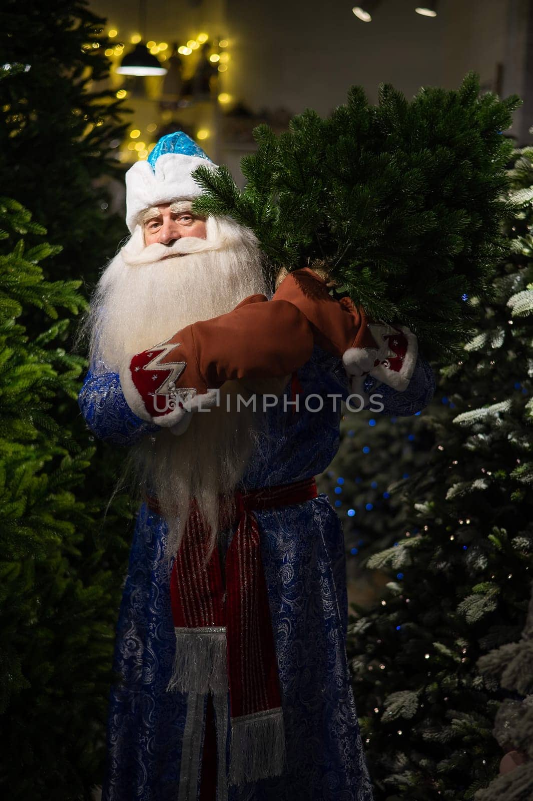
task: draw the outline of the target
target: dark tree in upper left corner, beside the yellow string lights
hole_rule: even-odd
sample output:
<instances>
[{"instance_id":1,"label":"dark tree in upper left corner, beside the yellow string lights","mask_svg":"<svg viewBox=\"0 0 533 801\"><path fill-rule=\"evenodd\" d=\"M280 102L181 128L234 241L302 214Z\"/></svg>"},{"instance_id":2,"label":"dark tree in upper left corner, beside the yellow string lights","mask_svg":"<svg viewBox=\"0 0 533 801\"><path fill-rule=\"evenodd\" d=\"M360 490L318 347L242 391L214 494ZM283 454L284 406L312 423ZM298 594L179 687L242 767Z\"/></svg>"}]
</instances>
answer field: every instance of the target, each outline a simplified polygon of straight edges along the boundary
<instances>
[{"instance_id":1,"label":"dark tree in upper left corner, beside the yellow string lights","mask_svg":"<svg viewBox=\"0 0 533 801\"><path fill-rule=\"evenodd\" d=\"M121 101L104 83L104 51L113 42L86 5L2 4L0 49L10 74L0 82L0 186L62 246L46 265L55 271L50 277L91 284L127 233L109 213L102 180L120 177L114 147L126 126Z\"/></svg>"}]
</instances>

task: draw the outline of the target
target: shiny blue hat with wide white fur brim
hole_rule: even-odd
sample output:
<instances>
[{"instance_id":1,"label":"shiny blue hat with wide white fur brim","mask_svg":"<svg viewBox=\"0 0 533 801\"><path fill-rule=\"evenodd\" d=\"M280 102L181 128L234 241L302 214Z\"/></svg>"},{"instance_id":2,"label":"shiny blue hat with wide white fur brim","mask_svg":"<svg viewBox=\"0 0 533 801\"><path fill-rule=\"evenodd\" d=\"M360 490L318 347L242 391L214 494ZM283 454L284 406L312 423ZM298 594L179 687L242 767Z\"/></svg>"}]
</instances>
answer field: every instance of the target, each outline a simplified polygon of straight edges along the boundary
<instances>
[{"instance_id":1,"label":"shiny blue hat with wide white fur brim","mask_svg":"<svg viewBox=\"0 0 533 801\"><path fill-rule=\"evenodd\" d=\"M183 131L159 139L146 161L126 172L126 224L133 233L146 208L173 200L193 199L202 189L192 173L200 164L216 168L201 147Z\"/></svg>"}]
</instances>

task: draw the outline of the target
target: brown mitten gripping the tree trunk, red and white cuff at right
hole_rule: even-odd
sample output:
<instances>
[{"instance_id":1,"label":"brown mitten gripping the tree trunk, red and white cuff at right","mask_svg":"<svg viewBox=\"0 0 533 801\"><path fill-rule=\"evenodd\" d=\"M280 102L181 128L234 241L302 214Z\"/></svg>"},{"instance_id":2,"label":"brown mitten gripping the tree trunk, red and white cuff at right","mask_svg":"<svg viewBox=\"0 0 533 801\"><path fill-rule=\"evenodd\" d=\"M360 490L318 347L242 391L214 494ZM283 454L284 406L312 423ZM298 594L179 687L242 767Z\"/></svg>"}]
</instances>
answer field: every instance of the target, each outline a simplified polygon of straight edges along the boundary
<instances>
[{"instance_id":1,"label":"brown mitten gripping the tree trunk, red and white cuff at right","mask_svg":"<svg viewBox=\"0 0 533 801\"><path fill-rule=\"evenodd\" d=\"M407 388L418 355L416 336L409 328L371 320L350 298L335 300L326 281L310 268L289 273L273 300L288 300L307 316L316 343L342 357L352 392L366 397L363 387L369 374L400 392Z\"/></svg>"}]
</instances>

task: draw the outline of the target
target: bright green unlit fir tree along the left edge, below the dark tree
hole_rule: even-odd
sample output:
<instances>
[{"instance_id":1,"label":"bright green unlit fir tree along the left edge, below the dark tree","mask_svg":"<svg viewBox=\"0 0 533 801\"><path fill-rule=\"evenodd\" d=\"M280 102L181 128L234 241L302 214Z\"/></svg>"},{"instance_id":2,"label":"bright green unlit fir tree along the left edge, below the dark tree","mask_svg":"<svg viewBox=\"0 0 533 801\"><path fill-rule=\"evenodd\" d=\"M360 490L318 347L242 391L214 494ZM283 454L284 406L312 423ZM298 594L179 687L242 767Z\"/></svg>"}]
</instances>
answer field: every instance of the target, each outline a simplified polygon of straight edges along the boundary
<instances>
[{"instance_id":1,"label":"bright green unlit fir tree along the left edge, below the dark tree","mask_svg":"<svg viewBox=\"0 0 533 801\"><path fill-rule=\"evenodd\" d=\"M11 799L82 798L102 762L118 604L93 534L102 503L78 497L92 449L55 419L62 403L75 413L84 361L62 339L85 301L81 281L43 279L58 248L19 203L0 199L0 229L0 787ZM18 322L33 308L50 323L38 336Z\"/></svg>"}]
</instances>

